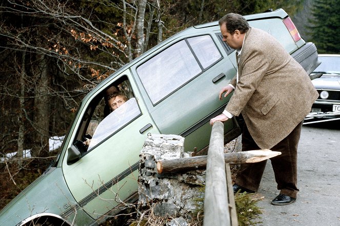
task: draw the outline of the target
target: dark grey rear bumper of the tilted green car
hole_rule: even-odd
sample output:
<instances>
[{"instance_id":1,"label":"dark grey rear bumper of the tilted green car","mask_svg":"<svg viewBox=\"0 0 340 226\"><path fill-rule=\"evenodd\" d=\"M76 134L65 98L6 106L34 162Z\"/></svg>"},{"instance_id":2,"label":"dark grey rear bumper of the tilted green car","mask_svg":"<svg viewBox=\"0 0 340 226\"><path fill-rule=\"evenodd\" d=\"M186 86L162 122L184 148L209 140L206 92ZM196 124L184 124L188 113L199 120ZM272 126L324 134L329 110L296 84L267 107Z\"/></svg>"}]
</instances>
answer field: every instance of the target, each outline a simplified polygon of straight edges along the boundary
<instances>
[{"instance_id":1,"label":"dark grey rear bumper of the tilted green car","mask_svg":"<svg viewBox=\"0 0 340 226\"><path fill-rule=\"evenodd\" d=\"M308 75L310 75L318 65L318 54L313 42L307 42L303 47L296 50L292 57L301 64Z\"/></svg>"}]
</instances>

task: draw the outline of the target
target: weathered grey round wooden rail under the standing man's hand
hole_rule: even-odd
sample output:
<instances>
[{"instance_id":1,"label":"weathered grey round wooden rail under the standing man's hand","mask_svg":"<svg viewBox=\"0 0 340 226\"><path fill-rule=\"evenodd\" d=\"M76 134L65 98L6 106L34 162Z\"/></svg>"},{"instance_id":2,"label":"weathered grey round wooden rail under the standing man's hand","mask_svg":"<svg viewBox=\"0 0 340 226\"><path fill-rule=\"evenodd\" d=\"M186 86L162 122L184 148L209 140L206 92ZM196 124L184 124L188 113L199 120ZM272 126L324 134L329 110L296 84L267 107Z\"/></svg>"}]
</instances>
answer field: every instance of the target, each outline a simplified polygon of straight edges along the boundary
<instances>
[{"instance_id":1,"label":"weathered grey round wooden rail under the standing man's hand","mask_svg":"<svg viewBox=\"0 0 340 226\"><path fill-rule=\"evenodd\" d=\"M223 123L212 126L204 195L203 225L230 225L226 169L223 149Z\"/></svg>"}]
</instances>

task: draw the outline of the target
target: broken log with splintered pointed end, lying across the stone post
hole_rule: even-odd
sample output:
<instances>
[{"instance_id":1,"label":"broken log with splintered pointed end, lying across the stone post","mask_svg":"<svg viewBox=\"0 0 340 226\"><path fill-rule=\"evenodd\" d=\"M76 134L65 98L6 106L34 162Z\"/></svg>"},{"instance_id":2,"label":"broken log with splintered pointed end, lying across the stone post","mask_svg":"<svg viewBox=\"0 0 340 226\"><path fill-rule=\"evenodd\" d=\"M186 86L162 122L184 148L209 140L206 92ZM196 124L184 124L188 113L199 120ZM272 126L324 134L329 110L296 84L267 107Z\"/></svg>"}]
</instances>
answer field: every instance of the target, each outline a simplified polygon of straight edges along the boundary
<instances>
[{"instance_id":1,"label":"broken log with splintered pointed end, lying across the stone post","mask_svg":"<svg viewBox=\"0 0 340 226\"><path fill-rule=\"evenodd\" d=\"M258 163L271 157L280 155L279 151L271 151L269 149L239 151L225 153L225 163L242 164L242 163ZM173 160L157 161L158 173L170 173L182 170L205 169L207 166L207 155L186 157Z\"/></svg>"}]
</instances>

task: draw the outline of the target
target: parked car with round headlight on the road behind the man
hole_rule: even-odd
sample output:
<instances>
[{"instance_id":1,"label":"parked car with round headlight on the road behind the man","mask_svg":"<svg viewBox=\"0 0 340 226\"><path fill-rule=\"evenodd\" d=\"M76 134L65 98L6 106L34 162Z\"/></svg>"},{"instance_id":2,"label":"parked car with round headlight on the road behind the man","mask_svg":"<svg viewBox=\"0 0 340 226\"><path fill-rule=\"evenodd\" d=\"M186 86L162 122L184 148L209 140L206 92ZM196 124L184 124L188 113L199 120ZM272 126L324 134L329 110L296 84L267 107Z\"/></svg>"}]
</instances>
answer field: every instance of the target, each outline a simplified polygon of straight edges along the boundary
<instances>
[{"instance_id":1,"label":"parked car with round headlight on the road behind the man","mask_svg":"<svg viewBox=\"0 0 340 226\"><path fill-rule=\"evenodd\" d=\"M312 112L306 119L318 119L313 121L314 123L329 119L340 120L340 55L319 54L318 59L321 64L312 74L322 74L322 76L313 79L312 83L319 97L315 100Z\"/></svg>"}]
</instances>

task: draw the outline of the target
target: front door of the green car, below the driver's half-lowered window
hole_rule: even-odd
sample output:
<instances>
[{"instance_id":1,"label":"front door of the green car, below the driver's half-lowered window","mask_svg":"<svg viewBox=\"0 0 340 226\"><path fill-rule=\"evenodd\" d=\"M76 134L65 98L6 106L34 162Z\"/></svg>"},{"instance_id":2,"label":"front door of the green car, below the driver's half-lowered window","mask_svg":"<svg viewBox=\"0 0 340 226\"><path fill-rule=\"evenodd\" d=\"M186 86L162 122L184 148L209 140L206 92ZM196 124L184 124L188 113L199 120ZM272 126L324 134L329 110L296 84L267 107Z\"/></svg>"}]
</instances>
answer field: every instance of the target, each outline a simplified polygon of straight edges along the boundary
<instances>
[{"instance_id":1,"label":"front door of the green car, below the driver's half-lowered window","mask_svg":"<svg viewBox=\"0 0 340 226\"><path fill-rule=\"evenodd\" d=\"M85 149L82 156L76 162L67 161L67 156L63 160L64 177L77 201L76 208L83 208L94 219L115 210L137 192L139 152L147 133L159 133L130 71L109 83L88 98L76 122L73 143ZM116 86L128 100L103 119L107 103L103 94L109 85ZM87 139L90 145L84 147Z\"/></svg>"}]
</instances>

